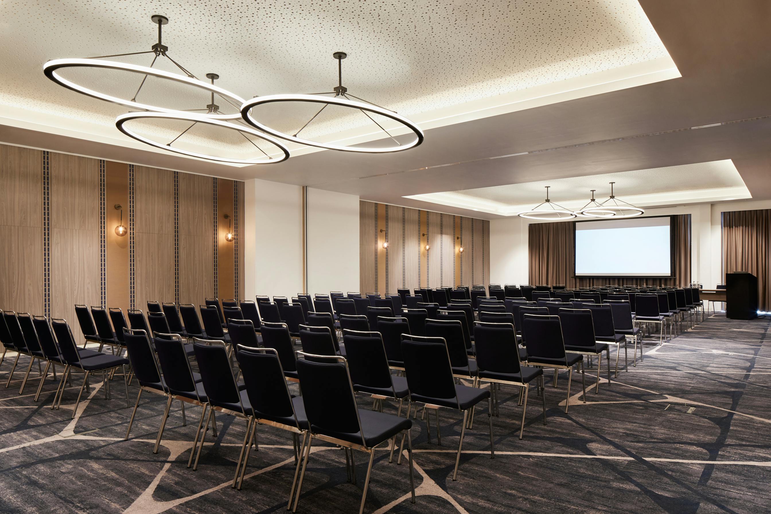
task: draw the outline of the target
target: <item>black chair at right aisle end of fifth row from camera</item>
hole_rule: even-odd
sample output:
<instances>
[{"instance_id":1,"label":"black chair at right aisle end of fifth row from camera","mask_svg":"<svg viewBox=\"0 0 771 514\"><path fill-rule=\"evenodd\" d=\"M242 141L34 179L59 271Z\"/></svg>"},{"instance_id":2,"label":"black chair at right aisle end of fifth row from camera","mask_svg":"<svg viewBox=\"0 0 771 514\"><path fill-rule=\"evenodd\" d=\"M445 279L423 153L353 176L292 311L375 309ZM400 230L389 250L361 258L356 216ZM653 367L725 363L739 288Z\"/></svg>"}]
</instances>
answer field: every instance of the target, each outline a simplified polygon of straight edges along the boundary
<instances>
[{"instance_id":1,"label":"black chair at right aisle end of fifth row from camera","mask_svg":"<svg viewBox=\"0 0 771 514\"><path fill-rule=\"evenodd\" d=\"M589 309L560 309L560 324L565 351L569 354L597 357L597 385L595 393L600 392L600 368L602 367L602 352L608 363L608 385L611 384L611 353L608 343L598 341L594 334L593 312ZM584 360L581 357L581 380L584 380ZM586 403L586 388L584 386L584 403Z\"/></svg>"}]
</instances>

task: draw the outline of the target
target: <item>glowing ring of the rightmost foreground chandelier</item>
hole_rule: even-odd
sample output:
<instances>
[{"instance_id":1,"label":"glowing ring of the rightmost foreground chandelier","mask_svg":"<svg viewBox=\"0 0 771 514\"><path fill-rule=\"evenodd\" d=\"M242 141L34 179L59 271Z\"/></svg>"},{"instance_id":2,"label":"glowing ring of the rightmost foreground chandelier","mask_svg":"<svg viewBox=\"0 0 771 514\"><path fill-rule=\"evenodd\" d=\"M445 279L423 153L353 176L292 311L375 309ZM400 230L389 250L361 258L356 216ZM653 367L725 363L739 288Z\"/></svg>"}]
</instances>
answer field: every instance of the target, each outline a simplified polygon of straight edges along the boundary
<instances>
[{"instance_id":1,"label":"glowing ring of the rightmost foreground chandelier","mask_svg":"<svg viewBox=\"0 0 771 514\"><path fill-rule=\"evenodd\" d=\"M256 106L261 106L264 103L271 103L271 102L315 102L315 103L326 103L333 106L351 107L352 109L362 109L364 111L369 111L370 113L379 114L381 116L385 116L386 118L390 118L390 119L393 119L394 121L402 123L402 125L406 126L410 130L412 130L412 132L415 133L416 139L411 143L407 143L406 145L388 146L385 148L370 148L370 147L362 147L362 146L339 146L339 145L333 145L330 143L316 143L315 141L311 141L309 139L302 139L301 137L290 136L288 134L279 132L276 129L271 129L271 127L263 125L262 123L254 119L251 116L251 114L249 114L249 111L252 108ZM293 143L299 143L301 145L316 146L318 148L325 148L330 150L342 150L343 152L360 152L360 153L400 152L402 150L414 148L415 146L418 146L420 143L423 143L423 130L419 129L418 126L416 126L414 123L409 121L409 119L406 119L404 116L400 116L399 114L394 113L393 111L389 111L388 109L383 109L382 107L372 105L371 103L355 102L354 100L341 99L341 98L335 98L335 97L329 97L329 96L317 96L317 95L258 96L256 98L253 98L245 102L244 105L241 106L241 116L243 116L244 120L250 125L255 126L258 129L263 130L264 132L267 132L269 134L273 134L276 137L280 137L281 139L286 139L288 141L291 141Z\"/></svg>"}]
</instances>

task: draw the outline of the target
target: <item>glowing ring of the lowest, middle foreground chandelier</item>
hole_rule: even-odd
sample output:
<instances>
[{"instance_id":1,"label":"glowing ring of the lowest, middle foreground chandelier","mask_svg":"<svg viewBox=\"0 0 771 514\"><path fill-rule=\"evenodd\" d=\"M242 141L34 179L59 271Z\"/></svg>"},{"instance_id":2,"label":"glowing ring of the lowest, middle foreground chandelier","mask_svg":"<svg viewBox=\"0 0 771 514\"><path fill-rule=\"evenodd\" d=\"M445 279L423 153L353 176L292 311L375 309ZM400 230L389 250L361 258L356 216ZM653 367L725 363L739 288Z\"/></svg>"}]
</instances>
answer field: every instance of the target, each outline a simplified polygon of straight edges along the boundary
<instances>
[{"instance_id":1,"label":"glowing ring of the lowest, middle foreground chandelier","mask_svg":"<svg viewBox=\"0 0 771 514\"><path fill-rule=\"evenodd\" d=\"M221 126L225 129L234 129L239 130L241 132L245 132L248 134L251 134L252 136L257 136L260 139L264 139L265 141L268 141L269 143L273 143L275 146L278 146L278 148L281 149L281 151L284 153L284 156L281 157L281 159L274 159L274 158L268 158L268 160L258 160L258 159L230 159L228 157L217 157L217 156L210 156L206 155L204 153L196 153L196 152L190 152L188 150L180 149L180 148L174 148L173 146L164 145L163 143L158 143L157 141L153 141L152 139L147 139L144 136L140 136L137 133L132 132L131 130L127 129L126 126L123 124L127 121L130 121L131 119L181 119L183 121L191 121L191 122L197 122L197 123L206 123L208 125L214 125L214 126ZM155 146L156 148L169 150L170 152L174 153L181 153L182 155L190 156L190 157L197 157L199 159L205 159L205 160L214 160L220 163L232 163L232 164L274 164L274 163L281 163L281 161L287 160L289 158L289 150L286 146L284 146L281 141L278 139L274 139L271 136L268 136L268 134L259 133L257 130L252 129L251 127L247 126L238 126L234 125L233 123L227 123L224 121L221 121L219 119L214 119L210 115L205 114L195 114L195 113L126 113L121 114L115 119L115 126L120 130L120 132L126 134L126 136L129 136L130 138L136 139L137 141L141 141L142 143L146 143L150 146Z\"/></svg>"}]
</instances>

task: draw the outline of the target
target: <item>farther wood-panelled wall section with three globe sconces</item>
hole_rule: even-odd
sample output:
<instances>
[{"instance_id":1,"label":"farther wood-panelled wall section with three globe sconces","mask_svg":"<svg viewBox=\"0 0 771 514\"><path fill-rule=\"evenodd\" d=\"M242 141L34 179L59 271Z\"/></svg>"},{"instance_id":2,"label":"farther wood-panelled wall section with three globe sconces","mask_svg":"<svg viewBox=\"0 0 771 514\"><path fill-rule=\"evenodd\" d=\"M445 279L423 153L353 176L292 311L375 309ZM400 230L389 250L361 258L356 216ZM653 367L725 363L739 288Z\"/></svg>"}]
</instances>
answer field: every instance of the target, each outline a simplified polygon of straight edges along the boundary
<instances>
[{"instance_id":1,"label":"farther wood-panelled wall section with three globe sconces","mask_svg":"<svg viewBox=\"0 0 771 514\"><path fill-rule=\"evenodd\" d=\"M362 294L490 282L488 220L362 200L359 241Z\"/></svg>"}]
</instances>

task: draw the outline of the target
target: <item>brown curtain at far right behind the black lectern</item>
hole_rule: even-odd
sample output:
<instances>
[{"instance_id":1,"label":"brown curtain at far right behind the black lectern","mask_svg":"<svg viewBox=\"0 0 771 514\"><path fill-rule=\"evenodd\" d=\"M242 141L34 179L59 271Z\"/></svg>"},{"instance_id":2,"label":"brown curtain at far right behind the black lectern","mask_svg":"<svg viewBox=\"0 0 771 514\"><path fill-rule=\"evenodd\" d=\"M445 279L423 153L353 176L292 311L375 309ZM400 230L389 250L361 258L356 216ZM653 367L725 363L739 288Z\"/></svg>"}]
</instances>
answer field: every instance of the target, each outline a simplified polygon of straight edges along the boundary
<instances>
[{"instance_id":1,"label":"brown curtain at far right behind the black lectern","mask_svg":"<svg viewBox=\"0 0 771 514\"><path fill-rule=\"evenodd\" d=\"M758 308L771 310L771 209L722 213L723 282L727 273L749 271L758 277Z\"/></svg>"}]
</instances>

